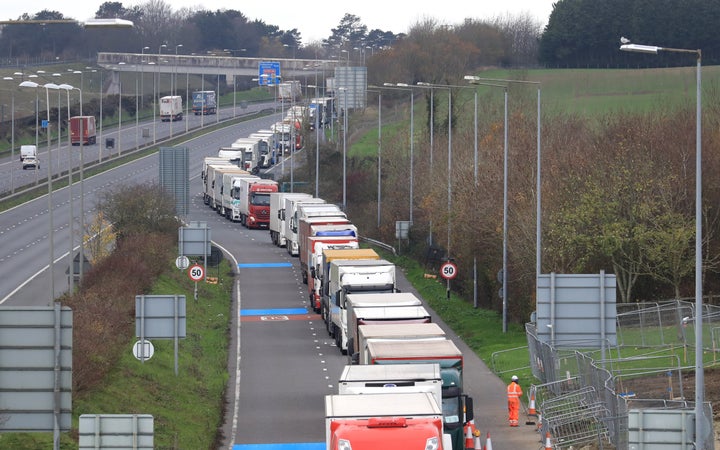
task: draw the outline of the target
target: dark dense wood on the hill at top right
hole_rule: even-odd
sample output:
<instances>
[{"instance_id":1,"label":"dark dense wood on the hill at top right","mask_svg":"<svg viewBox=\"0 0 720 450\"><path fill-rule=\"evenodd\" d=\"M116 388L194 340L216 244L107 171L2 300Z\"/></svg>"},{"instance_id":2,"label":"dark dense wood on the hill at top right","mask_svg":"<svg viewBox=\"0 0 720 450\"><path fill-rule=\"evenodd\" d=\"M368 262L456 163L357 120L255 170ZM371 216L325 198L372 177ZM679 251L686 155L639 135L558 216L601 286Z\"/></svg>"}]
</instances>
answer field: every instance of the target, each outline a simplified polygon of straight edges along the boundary
<instances>
[{"instance_id":1,"label":"dark dense wood on the hill at top right","mask_svg":"<svg viewBox=\"0 0 720 450\"><path fill-rule=\"evenodd\" d=\"M539 62L549 67L687 65L672 54L627 55L620 37L638 44L702 49L704 64L720 62L716 29L720 3L704 0L560 0L540 39ZM690 56L688 56L690 58Z\"/></svg>"}]
</instances>

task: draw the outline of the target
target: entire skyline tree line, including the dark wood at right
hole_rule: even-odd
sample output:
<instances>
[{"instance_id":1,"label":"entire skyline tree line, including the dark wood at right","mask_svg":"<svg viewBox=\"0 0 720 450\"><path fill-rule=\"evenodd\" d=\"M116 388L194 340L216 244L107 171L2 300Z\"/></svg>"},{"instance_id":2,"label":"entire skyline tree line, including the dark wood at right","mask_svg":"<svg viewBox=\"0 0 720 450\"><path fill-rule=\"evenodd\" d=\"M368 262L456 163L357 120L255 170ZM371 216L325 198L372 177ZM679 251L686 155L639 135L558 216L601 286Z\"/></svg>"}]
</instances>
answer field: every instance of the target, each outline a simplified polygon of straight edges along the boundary
<instances>
[{"instance_id":1,"label":"entire skyline tree line, including the dark wood at right","mask_svg":"<svg viewBox=\"0 0 720 450\"><path fill-rule=\"evenodd\" d=\"M92 58L98 51L138 52L167 44L182 44L183 53L227 50L233 56L339 57L340 51L376 51L395 46L406 34L380 29L368 30L361 18L346 14L331 34L320 42L303 42L297 29L282 30L262 20L249 20L234 9L209 11L182 8L173 10L165 0L126 7L121 2L105 2L96 17L132 20L132 30L85 30L76 24L5 26L0 34L0 55L8 61L43 57L63 60ZM43 10L19 20L66 19L61 13ZM478 21L466 19L439 28L455 36L458 43L483 48L486 65L547 67L637 67L685 65L677 55L625 55L618 51L625 36L637 43L673 48L702 49L706 64L720 61L720 43L715 24L720 4L690 0L560 0L544 30L528 16ZM437 28L433 19L418 23L419 28ZM479 28L484 28L479 32ZM424 47L414 49L422 53ZM451 53L455 53L454 49ZM412 61L408 70L413 70Z\"/></svg>"}]
</instances>

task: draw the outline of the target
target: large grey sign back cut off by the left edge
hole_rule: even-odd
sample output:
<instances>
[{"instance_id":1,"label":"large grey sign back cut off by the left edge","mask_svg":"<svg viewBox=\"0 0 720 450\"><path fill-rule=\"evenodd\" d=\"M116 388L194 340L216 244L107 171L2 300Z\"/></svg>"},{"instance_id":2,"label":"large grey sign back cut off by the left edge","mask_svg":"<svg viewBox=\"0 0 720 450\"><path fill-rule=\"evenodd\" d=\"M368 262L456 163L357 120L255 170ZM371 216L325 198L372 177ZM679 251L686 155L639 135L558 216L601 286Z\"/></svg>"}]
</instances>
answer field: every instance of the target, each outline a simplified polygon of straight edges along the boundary
<instances>
[{"instance_id":1,"label":"large grey sign back cut off by the left edge","mask_svg":"<svg viewBox=\"0 0 720 450\"><path fill-rule=\"evenodd\" d=\"M0 388L0 431L70 430L70 308L0 307Z\"/></svg>"}]
</instances>

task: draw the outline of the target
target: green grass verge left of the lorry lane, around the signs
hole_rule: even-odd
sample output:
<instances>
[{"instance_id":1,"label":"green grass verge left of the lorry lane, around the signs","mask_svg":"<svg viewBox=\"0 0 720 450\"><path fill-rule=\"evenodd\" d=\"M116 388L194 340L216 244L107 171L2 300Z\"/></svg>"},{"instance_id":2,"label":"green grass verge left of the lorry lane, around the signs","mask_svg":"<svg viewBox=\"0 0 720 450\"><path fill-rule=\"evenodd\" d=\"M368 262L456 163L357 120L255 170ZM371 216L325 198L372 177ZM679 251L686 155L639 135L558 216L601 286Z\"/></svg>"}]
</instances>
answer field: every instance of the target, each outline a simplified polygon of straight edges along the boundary
<instances>
[{"instance_id":1,"label":"green grass verge left of the lorry lane, around the signs","mask_svg":"<svg viewBox=\"0 0 720 450\"><path fill-rule=\"evenodd\" d=\"M217 448L228 381L233 280L227 261L216 270L211 275L218 277L218 283L199 283L197 301L193 299L194 284L187 274L170 265L149 293L179 294L186 298L187 337L179 341L178 375L174 373L172 340L153 340L153 357L141 363L132 354L137 339L127 336L125 349L102 386L74 396L74 428L70 433L62 433L61 449L77 448L81 414L151 414L155 449ZM0 448L53 448L52 433L3 433Z\"/></svg>"}]
</instances>

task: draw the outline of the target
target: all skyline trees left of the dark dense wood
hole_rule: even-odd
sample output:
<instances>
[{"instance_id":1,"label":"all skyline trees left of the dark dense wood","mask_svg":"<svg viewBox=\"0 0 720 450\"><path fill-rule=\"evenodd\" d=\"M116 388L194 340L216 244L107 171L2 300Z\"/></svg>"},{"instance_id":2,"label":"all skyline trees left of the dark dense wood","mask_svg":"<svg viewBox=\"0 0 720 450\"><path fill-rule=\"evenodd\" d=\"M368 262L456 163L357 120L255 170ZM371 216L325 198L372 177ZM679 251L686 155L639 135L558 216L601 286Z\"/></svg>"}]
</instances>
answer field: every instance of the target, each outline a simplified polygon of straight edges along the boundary
<instances>
[{"instance_id":1,"label":"all skyline trees left of the dark dense wood","mask_svg":"<svg viewBox=\"0 0 720 450\"><path fill-rule=\"evenodd\" d=\"M224 51L228 56L330 59L340 57L344 50L353 58L364 60L396 45L406 36L380 29L369 30L360 17L345 14L327 38L307 43L302 41L297 29L282 30L261 20L250 20L238 10L173 10L164 0L148 0L132 7L121 2L105 2L95 16L131 20L135 27L97 30L84 29L75 23L7 25L0 33L0 58L8 64L31 58L67 61L92 58L99 51L140 52L143 47L149 47L149 52L156 52L163 44L167 45L167 52L172 52L174 46L182 44L180 52L183 54L222 54ZM71 18L51 10L18 18L20 21L63 19ZM436 27L434 21L419 26L427 28L430 24L431 28ZM487 30L474 31L479 26ZM484 58L489 64L535 64L540 25L528 17L487 22L468 19L462 24L441 28L469 45L494 46Z\"/></svg>"}]
</instances>

